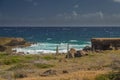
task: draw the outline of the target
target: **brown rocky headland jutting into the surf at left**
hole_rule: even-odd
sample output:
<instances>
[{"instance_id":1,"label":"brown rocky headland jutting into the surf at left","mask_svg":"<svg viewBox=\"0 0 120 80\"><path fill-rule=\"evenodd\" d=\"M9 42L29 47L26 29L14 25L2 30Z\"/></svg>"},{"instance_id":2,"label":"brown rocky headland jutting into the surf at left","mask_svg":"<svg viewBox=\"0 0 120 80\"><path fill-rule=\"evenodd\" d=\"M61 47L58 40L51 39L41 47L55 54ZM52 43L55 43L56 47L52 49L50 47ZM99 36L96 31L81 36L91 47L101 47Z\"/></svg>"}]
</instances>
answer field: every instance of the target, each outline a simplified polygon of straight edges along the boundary
<instances>
[{"instance_id":1,"label":"brown rocky headland jutting into the surf at left","mask_svg":"<svg viewBox=\"0 0 120 80\"><path fill-rule=\"evenodd\" d=\"M0 51L11 50L14 47L26 47L30 46L31 43L26 42L23 38L9 38L0 37Z\"/></svg>"}]
</instances>

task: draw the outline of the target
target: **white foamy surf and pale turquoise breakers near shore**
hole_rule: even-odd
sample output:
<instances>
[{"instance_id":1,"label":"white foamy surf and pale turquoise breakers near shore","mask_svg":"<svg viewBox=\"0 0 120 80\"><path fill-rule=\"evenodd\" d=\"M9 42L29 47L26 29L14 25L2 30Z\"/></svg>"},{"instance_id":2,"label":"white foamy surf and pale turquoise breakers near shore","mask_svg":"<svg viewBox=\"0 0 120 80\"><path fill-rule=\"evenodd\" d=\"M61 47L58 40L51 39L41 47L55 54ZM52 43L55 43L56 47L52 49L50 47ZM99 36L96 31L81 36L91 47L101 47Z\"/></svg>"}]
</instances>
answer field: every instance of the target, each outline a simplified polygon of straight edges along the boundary
<instances>
[{"instance_id":1,"label":"white foamy surf and pale turquoise breakers near shore","mask_svg":"<svg viewBox=\"0 0 120 80\"><path fill-rule=\"evenodd\" d=\"M25 48L14 48L16 52L24 52L25 54L39 54L39 53L56 53L56 47L58 46L59 53L67 52L67 43L36 43ZM86 44L69 44L69 48L75 48L76 50L82 50L85 46L90 46L90 43Z\"/></svg>"}]
</instances>

